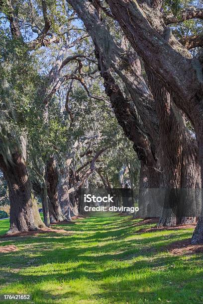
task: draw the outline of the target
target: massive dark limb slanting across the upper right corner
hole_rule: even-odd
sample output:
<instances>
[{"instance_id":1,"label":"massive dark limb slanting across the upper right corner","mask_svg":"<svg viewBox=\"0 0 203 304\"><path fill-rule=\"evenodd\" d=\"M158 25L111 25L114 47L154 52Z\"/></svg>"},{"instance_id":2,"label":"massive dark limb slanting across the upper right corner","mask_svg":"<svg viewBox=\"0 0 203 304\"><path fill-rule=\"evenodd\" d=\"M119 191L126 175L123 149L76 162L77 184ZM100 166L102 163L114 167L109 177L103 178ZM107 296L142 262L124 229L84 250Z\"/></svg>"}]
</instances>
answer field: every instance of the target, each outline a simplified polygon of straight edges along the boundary
<instances>
[{"instance_id":1,"label":"massive dark limb slanting across the upper right corner","mask_svg":"<svg viewBox=\"0 0 203 304\"><path fill-rule=\"evenodd\" d=\"M161 78L167 89L179 96L179 106L191 117L190 101L202 94L202 77L186 48L172 39L170 29L160 26L153 15L153 26L134 0L106 0L134 50ZM153 13L153 12L152 12ZM157 21L157 26L156 26ZM157 56L158 54L158 56ZM166 60L169 58L169 60ZM200 63L197 62L200 66ZM201 67L200 67L201 69Z\"/></svg>"}]
</instances>

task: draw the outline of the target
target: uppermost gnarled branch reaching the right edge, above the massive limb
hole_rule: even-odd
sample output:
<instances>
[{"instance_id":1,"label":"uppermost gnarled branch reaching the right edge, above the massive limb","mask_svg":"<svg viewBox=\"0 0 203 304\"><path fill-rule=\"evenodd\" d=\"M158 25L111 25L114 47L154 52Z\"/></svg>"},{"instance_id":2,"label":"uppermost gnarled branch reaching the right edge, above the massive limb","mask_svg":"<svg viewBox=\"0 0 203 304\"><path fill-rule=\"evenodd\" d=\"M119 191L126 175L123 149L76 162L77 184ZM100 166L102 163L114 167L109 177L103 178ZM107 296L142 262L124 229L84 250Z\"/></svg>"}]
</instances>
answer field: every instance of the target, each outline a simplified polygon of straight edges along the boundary
<instances>
[{"instance_id":1,"label":"uppermost gnarled branch reaching the right edge, above the massive limb","mask_svg":"<svg viewBox=\"0 0 203 304\"><path fill-rule=\"evenodd\" d=\"M178 16L169 13L169 14L164 14L163 17L166 24L179 23L185 20L190 20L195 18L203 19L203 8L187 7L185 9L182 9L179 12Z\"/></svg>"}]
</instances>

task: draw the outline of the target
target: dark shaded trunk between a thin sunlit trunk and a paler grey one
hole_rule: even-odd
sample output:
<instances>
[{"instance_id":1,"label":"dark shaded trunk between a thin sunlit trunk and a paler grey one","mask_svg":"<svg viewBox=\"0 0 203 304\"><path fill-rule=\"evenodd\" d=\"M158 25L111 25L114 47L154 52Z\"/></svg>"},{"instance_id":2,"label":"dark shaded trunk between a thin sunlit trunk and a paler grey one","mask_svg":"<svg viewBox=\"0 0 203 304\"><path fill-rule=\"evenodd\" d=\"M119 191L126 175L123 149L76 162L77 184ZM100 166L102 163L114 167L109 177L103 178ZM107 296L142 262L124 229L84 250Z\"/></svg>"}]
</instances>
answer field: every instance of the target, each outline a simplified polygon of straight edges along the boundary
<instances>
[{"instance_id":1,"label":"dark shaded trunk between a thin sunlit trunk and a paler grey one","mask_svg":"<svg viewBox=\"0 0 203 304\"><path fill-rule=\"evenodd\" d=\"M48 205L49 205L49 216L50 222L63 222L66 217L62 213L59 200L58 200L58 181L59 171L56 165L54 157L50 157L47 161L46 166L46 181L47 181L47 194L48 194Z\"/></svg>"}]
</instances>

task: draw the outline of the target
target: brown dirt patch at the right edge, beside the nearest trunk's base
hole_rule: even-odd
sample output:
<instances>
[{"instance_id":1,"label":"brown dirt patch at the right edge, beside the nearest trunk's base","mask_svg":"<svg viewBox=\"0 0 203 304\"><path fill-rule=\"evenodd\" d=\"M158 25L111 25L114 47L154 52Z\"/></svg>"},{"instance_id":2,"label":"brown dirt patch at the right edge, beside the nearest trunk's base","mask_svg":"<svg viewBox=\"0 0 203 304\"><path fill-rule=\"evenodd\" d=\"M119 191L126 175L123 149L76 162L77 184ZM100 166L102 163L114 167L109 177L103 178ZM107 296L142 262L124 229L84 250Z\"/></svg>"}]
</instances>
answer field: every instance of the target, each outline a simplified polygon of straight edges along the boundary
<instances>
[{"instance_id":1,"label":"brown dirt patch at the right edge, beside the nearest trunk's base","mask_svg":"<svg viewBox=\"0 0 203 304\"><path fill-rule=\"evenodd\" d=\"M203 253L203 245L191 245L191 238L176 241L162 249L167 249L173 255Z\"/></svg>"}]
</instances>

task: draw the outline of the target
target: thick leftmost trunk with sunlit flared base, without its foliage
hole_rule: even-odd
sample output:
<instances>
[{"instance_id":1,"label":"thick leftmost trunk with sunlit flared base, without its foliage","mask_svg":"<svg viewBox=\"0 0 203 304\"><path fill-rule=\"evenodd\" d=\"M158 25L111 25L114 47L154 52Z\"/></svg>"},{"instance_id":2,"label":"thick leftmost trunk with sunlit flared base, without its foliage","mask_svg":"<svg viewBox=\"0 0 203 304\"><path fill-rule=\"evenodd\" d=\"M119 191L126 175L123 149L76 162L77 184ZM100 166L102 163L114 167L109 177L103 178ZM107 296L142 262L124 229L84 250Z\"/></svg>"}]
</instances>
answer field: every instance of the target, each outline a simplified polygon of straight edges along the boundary
<instances>
[{"instance_id":1,"label":"thick leftmost trunk with sunlit flared base, without its foliage","mask_svg":"<svg viewBox=\"0 0 203 304\"><path fill-rule=\"evenodd\" d=\"M34 231L44 228L36 204L32 202L31 183L26 165L19 152L5 161L0 155L0 168L8 184L10 200L10 229L8 233Z\"/></svg>"}]
</instances>

